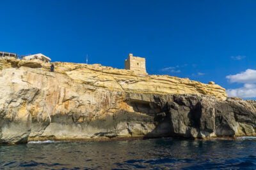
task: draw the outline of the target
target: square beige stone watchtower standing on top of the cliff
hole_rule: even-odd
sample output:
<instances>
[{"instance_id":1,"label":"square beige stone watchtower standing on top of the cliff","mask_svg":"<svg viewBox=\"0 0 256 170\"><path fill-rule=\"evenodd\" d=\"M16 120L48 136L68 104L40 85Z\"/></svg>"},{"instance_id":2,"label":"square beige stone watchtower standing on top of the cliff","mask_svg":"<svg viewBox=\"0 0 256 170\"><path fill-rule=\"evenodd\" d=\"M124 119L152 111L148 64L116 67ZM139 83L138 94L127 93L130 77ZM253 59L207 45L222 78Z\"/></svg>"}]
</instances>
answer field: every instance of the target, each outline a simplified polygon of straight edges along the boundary
<instances>
[{"instance_id":1,"label":"square beige stone watchtower standing on top of the cliff","mask_svg":"<svg viewBox=\"0 0 256 170\"><path fill-rule=\"evenodd\" d=\"M124 62L125 69L138 71L140 74L147 74L146 71L146 59L142 57L134 57L132 53L129 53L128 59Z\"/></svg>"}]
</instances>

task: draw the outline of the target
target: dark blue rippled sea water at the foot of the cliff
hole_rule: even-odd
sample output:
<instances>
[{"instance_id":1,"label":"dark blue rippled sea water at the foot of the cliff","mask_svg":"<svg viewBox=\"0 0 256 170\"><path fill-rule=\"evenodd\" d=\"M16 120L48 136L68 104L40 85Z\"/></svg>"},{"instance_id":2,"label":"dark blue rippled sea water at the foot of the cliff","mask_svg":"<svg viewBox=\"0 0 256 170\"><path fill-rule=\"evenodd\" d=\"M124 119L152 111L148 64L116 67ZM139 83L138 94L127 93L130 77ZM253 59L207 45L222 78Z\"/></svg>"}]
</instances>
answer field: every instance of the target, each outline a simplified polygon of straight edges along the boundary
<instances>
[{"instance_id":1,"label":"dark blue rippled sea water at the foot of the cliff","mask_svg":"<svg viewBox=\"0 0 256 170\"><path fill-rule=\"evenodd\" d=\"M30 142L0 146L0 169L256 169L256 139Z\"/></svg>"}]
</instances>

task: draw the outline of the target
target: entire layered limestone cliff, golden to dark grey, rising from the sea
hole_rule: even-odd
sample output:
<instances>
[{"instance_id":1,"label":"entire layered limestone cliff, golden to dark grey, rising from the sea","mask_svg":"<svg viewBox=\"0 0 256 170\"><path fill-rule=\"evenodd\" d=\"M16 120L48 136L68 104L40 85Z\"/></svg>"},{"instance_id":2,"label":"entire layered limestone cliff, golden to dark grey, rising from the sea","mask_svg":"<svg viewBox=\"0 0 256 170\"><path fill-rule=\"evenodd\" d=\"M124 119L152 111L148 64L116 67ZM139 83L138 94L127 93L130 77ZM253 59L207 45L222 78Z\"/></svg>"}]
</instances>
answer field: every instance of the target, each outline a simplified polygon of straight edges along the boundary
<instances>
[{"instance_id":1,"label":"entire layered limestone cliff, golden to dark grey, rising from the sea","mask_svg":"<svg viewBox=\"0 0 256 170\"><path fill-rule=\"evenodd\" d=\"M255 136L254 101L187 78L99 64L0 60L0 143Z\"/></svg>"}]
</instances>

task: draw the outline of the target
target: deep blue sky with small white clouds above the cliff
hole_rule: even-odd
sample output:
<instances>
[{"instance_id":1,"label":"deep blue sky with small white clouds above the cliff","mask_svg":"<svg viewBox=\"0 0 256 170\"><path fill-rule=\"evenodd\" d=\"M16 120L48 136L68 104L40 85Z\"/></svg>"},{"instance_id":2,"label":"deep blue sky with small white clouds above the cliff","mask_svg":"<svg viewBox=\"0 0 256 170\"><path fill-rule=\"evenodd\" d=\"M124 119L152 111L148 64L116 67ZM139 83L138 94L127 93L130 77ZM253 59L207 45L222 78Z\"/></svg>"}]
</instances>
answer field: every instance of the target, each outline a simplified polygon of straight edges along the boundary
<instances>
[{"instance_id":1,"label":"deep blue sky with small white clouds above the cliff","mask_svg":"<svg viewBox=\"0 0 256 170\"><path fill-rule=\"evenodd\" d=\"M0 51L215 81L256 97L256 1L0 1Z\"/></svg>"}]
</instances>

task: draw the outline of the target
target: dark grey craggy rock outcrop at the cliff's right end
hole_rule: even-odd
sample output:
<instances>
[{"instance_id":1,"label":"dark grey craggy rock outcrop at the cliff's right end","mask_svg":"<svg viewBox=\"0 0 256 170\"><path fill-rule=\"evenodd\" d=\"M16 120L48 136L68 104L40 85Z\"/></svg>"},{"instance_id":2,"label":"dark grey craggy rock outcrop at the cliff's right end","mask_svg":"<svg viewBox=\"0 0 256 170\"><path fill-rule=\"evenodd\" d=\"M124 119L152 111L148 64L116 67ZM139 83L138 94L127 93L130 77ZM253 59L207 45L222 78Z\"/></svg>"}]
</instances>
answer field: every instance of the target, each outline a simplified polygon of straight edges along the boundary
<instances>
[{"instance_id":1,"label":"dark grey craggy rock outcrop at the cliff's right end","mask_svg":"<svg viewBox=\"0 0 256 170\"><path fill-rule=\"evenodd\" d=\"M197 94L177 94L154 97L161 103L156 131L169 129L167 136L207 139L255 136L256 110L251 101L230 97L218 101L215 97ZM167 127L167 128L166 128Z\"/></svg>"}]
</instances>

